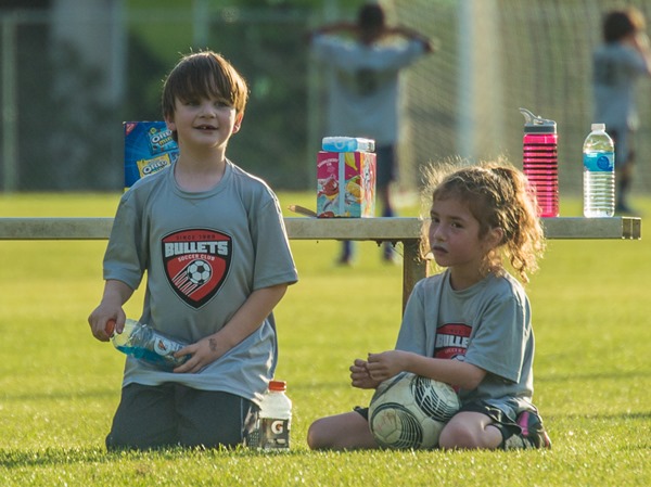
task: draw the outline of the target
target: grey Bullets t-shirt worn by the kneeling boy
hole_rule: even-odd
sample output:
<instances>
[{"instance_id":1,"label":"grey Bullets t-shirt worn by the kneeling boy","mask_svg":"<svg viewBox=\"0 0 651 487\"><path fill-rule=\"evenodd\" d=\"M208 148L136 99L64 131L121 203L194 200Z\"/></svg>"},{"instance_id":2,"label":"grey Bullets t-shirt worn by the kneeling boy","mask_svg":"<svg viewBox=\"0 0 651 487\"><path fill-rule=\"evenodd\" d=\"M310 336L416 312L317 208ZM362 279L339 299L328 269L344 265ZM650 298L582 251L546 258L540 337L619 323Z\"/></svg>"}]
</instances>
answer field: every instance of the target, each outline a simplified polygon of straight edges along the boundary
<instances>
[{"instance_id":1,"label":"grey Bullets t-shirt worn by the kneeling boy","mask_svg":"<svg viewBox=\"0 0 651 487\"><path fill-rule=\"evenodd\" d=\"M139 180L119 203L104 279L137 289L146 271L141 322L188 343L220 330L258 289L297 281L278 200L227 162L212 190L178 187L174 166ZM278 355L273 316L199 373L162 372L127 357L124 384L176 382L259 400Z\"/></svg>"}]
</instances>

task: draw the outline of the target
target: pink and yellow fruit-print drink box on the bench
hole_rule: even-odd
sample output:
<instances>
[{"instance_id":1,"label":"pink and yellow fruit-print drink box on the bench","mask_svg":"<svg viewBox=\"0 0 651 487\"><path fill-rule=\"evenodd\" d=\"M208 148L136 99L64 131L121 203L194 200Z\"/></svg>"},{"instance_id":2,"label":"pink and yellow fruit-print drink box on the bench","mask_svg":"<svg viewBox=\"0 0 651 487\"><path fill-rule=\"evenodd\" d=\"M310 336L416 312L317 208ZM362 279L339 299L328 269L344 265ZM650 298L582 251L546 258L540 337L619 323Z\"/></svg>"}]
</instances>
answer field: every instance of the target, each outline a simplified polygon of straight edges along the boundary
<instances>
[{"instance_id":1,"label":"pink and yellow fruit-print drink box on the bench","mask_svg":"<svg viewBox=\"0 0 651 487\"><path fill-rule=\"evenodd\" d=\"M317 154L317 216L366 218L375 214L375 154Z\"/></svg>"}]
</instances>

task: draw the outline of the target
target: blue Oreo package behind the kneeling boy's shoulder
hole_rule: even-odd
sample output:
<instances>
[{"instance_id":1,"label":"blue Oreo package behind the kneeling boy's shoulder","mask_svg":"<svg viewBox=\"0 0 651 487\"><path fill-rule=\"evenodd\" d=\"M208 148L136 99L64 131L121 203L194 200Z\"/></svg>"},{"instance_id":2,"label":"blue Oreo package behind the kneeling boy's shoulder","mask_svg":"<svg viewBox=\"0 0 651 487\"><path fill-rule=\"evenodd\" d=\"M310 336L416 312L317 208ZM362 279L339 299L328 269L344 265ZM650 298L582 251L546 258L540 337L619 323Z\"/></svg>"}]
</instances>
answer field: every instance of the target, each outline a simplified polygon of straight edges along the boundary
<instances>
[{"instance_id":1,"label":"blue Oreo package behind the kneeling boy's shoulder","mask_svg":"<svg viewBox=\"0 0 651 487\"><path fill-rule=\"evenodd\" d=\"M170 166L179 148L165 121L125 121L125 188Z\"/></svg>"}]
</instances>

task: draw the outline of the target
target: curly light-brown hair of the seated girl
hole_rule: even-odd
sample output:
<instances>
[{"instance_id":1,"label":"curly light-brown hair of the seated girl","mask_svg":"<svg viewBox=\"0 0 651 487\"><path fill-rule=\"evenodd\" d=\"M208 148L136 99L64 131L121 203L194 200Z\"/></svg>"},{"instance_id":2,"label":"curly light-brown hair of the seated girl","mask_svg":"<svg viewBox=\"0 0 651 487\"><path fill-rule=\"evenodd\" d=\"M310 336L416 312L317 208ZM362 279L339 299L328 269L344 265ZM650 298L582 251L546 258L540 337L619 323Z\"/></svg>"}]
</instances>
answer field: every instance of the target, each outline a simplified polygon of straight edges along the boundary
<instances>
[{"instance_id":1,"label":"curly light-brown hair of the seated girl","mask_svg":"<svg viewBox=\"0 0 651 487\"><path fill-rule=\"evenodd\" d=\"M525 176L505 159L477 165L443 164L425 169L429 204L457 198L468 205L480 222L480 239L494 228L503 238L485 258L484 273L505 273L502 255L509 259L522 282L538 269L545 251L545 238L537 217L535 197ZM429 220L423 228L424 251L430 252Z\"/></svg>"}]
</instances>

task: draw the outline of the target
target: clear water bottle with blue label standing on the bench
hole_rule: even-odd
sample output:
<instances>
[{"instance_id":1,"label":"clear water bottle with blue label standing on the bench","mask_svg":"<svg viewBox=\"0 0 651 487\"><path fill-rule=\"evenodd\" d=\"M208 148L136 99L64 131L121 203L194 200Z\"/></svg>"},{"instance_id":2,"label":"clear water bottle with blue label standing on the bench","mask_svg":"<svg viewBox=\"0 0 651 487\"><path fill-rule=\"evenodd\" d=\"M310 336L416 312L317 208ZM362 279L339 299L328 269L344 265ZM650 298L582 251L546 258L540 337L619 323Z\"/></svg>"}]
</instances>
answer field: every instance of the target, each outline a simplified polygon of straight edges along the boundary
<instances>
[{"instance_id":1,"label":"clear water bottle with blue label standing on the bench","mask_svg":"<svg viewBox=\"0 0 651 487\"><path fill-rule=\"evenodd\" d=\"M615 214L615 144L604 124L592 124L583 149L584 216L612 217Z\"/></svg>"}]
</instances>

